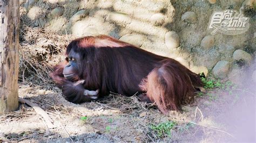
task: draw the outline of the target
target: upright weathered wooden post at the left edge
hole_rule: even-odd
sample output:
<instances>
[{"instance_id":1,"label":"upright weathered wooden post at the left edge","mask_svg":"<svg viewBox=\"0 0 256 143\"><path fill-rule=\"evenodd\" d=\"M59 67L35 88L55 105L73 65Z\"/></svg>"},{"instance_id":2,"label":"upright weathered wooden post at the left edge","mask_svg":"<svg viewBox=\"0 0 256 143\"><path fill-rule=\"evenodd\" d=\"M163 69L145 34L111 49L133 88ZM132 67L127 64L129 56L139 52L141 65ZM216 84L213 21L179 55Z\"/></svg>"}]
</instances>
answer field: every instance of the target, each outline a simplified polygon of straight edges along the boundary
<instances>
[{"instance_id":1,"label":"upright weathered wooden post at the left edge","mask_svg":"<svg viewBox=\"0 0 256 143\"><path fill-rule=\"evenodd\" d=\"M18 108L19 1L0 0L0 115Z\"/></svg>"}]
</instances>

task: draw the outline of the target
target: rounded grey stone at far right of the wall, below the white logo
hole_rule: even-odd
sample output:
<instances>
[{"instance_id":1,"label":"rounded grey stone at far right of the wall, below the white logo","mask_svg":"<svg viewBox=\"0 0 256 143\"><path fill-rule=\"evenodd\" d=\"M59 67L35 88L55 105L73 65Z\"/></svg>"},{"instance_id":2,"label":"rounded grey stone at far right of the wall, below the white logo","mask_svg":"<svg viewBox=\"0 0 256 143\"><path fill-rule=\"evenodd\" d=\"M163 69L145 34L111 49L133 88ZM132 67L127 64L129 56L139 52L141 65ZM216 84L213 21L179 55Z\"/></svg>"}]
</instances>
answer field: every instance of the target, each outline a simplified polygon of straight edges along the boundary
<instances>
[{"instance_id":1,"label":"rounded grey stone at far right of the wall, below the white logo","mask_svg":"<svg viewBox=\"0 0 256 143\"><path fill-rule=\"evenodd\" d=\"M247 64L250 64L252 62L252 56L251 54L242 51L241 49L237 49L234 53L233 53L233 59L235 61L243 61Z\"/></svg>"}]
</instances>

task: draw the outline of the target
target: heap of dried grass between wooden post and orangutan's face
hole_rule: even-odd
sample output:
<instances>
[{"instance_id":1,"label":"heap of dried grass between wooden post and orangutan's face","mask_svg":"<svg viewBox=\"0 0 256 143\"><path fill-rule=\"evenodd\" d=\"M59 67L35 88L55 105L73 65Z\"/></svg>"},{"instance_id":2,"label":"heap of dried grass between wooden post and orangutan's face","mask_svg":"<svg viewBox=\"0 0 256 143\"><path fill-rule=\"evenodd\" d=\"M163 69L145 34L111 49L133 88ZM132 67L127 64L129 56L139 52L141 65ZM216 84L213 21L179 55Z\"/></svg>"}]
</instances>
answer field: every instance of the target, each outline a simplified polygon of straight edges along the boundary
<instances>
[{"instance_id":1,"label":"heap of dried grass between wooden post and orangutan's face","mask_svg":"<svg viewBox=\"0 0 256 143\"><path fill-rule=\"evenodd\" d=\"M49 73L53 66L63 60L70 39L70 35L23 25L19 47L19 80L37 85L53 85Z\"/></svg>"}]
</instances>

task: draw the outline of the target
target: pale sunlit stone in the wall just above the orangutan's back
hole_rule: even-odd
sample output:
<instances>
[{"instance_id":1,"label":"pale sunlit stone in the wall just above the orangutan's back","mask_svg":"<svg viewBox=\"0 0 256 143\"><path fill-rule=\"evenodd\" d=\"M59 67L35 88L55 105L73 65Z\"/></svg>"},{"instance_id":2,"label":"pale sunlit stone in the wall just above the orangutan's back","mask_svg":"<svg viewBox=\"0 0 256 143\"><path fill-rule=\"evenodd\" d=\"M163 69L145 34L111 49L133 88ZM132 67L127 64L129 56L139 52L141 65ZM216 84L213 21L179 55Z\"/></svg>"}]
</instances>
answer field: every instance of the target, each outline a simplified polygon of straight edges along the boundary
<instances>
[{"instance_id":1,"label":"pale sunlit stone in the wall just above the orangutan's back","mask_svg":"<svg viewBox=\"0 0 256 143\"><path fill-rule=\"evenodd\" d=\"M140 34L126 34L123 35L119 40L128 42L134 46L140 47L143 44L145 37Z\"/></svg>"}]
</instances>

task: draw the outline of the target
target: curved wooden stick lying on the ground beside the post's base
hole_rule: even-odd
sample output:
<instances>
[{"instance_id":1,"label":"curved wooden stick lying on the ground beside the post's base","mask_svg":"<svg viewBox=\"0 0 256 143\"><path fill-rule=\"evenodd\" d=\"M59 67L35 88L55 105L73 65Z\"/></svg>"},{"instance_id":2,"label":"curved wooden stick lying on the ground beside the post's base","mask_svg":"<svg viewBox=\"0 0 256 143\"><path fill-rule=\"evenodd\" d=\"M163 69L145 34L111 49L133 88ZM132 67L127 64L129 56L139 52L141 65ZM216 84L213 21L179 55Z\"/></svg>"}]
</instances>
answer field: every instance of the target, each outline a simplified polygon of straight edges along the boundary
<instances>
[{"instance_id":1,"label":"curved wooden stick lying on the ground beside the post's base","mask_svg":"<svg viewBox=\"0 0 256 143\"><path fill-rule=\"evenodd\" d=\"M39 115L41 115L44 118L45 123L49 128L55 128L56 127L55 125L53 125L53 120L49 117L49 115L38 104L32 103L32 102L30 102L26 99L23 99L23 98L19 98L19 102L26 103L29 106L31 106L36 111L36 113L38 113Z\"/></svg>"}]
</instances>

